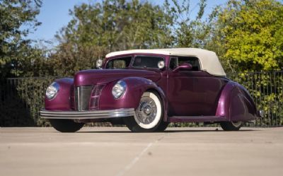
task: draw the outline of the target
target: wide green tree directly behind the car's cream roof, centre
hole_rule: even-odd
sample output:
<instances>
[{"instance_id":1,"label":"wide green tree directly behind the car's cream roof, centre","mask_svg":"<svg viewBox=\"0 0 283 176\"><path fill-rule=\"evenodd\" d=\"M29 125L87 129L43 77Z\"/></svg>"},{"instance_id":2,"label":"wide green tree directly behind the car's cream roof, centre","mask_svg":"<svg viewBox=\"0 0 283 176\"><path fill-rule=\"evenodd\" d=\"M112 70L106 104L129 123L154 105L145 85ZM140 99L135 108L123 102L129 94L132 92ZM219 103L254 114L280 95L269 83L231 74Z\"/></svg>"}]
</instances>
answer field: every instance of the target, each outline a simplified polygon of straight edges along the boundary
<instances>
[{"instance_id":1,"label":"wide green tree directly behind the car's cream roof, centre","mask_svg":"<svg viewBox=\"0 0 283 176\"><path fill-rule=\"evenodd\" d=\"M73 19L57 35L62 42L98 45L108 48L108 52L171 44L167 29L172 20L160 6L147 1L105 0L81 4L70 15Z\"/></svg>"}]
</instances>

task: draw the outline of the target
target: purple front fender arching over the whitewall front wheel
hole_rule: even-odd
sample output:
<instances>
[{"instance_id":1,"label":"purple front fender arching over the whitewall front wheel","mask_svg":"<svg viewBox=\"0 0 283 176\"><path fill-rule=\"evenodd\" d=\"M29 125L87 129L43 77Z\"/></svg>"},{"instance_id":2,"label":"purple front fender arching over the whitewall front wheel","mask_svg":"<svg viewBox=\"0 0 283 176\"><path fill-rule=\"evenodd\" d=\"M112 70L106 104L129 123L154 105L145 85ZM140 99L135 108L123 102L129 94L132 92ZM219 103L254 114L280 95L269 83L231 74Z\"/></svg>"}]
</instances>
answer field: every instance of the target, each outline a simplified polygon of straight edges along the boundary
<instances>
[{"instance_id":1,"label":"purple front fender arching over the whitewall front wheel","mask_svg":"<svg viewBox=\"0 0 283 176\"><path fill-rule=\"evenodd\" d=\"M163 90L159 88L156 85L156 83L154 83L153 81L140 77L122 78L121 81L125 81L125 83L127 83L127 88L124 95L122 95L122 97L119 99L113 98L112 88L115 85L115 83L117 83L117 81L108 83L108 85L106 85L103 88L100 94L100 100L99 100L100 110L113 110L119 108L137 109L137 107L139 106L141 95L146 90L155 90L161 97L161 100L163 102L163 107L166 107L164 103L165 94L163 93Z\"/></svg>"}]
</instances>

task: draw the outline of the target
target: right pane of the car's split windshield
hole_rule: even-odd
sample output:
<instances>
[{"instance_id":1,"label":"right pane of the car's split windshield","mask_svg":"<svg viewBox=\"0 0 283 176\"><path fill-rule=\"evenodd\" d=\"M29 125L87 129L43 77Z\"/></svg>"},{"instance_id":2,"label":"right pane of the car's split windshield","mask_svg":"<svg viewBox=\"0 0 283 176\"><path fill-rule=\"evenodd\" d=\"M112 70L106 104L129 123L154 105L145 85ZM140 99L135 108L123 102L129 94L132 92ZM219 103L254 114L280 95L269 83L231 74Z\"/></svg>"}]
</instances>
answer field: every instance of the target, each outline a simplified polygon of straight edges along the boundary
<instances>
[{"instance_id":1,"label":"right pane of the car's split windshield","mask_svg":"<svg viewBox=\"0 0 283 176\"><path fill-rule=\"evenodd\" d=\"M134 57L133 67L139 68L152 68L158 69L158 61L163 61L162 57L148 57L148 56L137 56Z\"/></svg>"}]
</instances>

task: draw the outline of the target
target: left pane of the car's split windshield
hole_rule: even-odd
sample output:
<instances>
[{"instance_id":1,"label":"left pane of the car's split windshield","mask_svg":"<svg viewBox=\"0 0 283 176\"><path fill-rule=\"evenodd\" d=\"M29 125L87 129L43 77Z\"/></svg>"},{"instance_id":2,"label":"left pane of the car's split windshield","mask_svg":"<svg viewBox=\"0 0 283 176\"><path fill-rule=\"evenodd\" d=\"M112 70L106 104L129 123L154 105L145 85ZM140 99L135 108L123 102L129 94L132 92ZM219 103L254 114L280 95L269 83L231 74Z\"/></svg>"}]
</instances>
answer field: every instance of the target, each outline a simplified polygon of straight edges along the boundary
<instances>
[{"instance_id":1,"label":"left pane of the car's split windshield","mask_svg":"<svg viewBox=\"0 0 283 176\"><path fill-rule=\"evenodd\" d=\"M122 57L108 61L105 69L127 69L132 57Z\"/></svg>"}]
</instances>

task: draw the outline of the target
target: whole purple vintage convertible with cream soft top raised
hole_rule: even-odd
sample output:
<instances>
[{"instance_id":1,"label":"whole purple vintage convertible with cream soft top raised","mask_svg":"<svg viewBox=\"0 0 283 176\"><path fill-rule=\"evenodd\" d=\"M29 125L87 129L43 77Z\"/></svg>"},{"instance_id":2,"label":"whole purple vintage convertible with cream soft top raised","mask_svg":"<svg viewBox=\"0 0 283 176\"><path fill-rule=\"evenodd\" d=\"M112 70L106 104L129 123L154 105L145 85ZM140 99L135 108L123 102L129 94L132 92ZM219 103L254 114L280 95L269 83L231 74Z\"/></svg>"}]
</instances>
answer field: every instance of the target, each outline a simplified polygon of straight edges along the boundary
<instances>
[{"instance_id":1,"label":"whole purple vintage convertible with cream soft top raised","mask_svg":"<svg viewBox=\"0 0 283 176\"><path fill-rule=\"evenodd\" d=\"M98 69L54 81L45 109L58 131L88 122L163 131L170 122L219 123L226 131L260 117L246 88L226 78L214 52L195 48L111 52Z\"/></svg>"}]
</instances>

